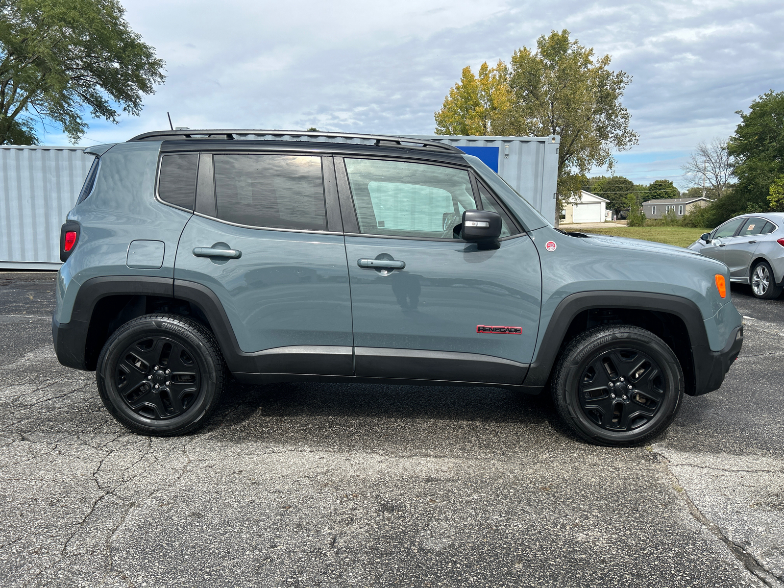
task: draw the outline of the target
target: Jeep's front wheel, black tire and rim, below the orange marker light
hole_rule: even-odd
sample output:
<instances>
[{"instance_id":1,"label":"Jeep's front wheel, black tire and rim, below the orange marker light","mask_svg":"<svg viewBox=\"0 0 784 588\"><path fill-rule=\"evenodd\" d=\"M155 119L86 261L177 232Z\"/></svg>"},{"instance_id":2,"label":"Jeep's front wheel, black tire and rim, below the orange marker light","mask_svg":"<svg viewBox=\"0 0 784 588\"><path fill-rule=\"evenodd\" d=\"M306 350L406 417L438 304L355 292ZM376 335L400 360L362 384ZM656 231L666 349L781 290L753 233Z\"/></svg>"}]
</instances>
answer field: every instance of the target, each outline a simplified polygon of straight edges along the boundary
<instances>
[{"instance_id":1,"label":"Jeep's front wheel, black tire and rim, below the orange marker light","mask_svg":"<svg viewBox=\"0 0 784 588\"><path fill-rule=\"evenodd\" d=\"M670 426L681 408L684 375L673 350L652 332L604 325L568 344L552 394L558 414L579 437L596 445L639 445Z\"/></svg>"}]
</instances>

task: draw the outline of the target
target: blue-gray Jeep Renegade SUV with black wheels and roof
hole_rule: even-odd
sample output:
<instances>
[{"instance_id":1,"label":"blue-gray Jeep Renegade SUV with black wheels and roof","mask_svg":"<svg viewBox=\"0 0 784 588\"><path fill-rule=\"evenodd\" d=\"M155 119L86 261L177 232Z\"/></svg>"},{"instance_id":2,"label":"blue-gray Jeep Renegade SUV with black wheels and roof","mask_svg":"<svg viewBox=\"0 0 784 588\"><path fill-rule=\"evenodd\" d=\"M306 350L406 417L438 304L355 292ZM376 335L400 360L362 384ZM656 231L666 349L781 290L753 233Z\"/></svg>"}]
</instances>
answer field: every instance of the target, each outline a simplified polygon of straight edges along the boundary
<instances>
[{"instance_id":1,"label":"blue-gray Jeep Renegade SUV with black wheels and roof","mask_svg":"<svg viewBox=\"0 0 784 588\"><path fill-rule=\"evenodd\" d=\"M165 131L90 147L54 347L140 434L242 382L547 389L575 434L646 441L742 344L724 263L554 229L426 140Z\"/></svg>"}]
</instances>

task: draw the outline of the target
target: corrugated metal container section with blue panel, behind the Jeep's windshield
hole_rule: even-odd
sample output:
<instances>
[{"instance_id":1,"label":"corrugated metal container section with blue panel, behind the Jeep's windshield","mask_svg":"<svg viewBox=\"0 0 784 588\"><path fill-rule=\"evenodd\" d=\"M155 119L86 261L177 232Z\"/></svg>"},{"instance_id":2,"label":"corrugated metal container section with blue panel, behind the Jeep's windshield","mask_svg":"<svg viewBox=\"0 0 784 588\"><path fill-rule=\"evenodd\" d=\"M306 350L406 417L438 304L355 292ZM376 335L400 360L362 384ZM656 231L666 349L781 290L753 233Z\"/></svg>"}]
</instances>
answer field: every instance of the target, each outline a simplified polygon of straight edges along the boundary
<instances>
[{"instance_id":1,"label":"corrugated metal container section with blue panel, behind the Jeep's windshield","mask_svg":"<svg viewBox=\"0 0 784 588\"><path fill-rule=\"evenodd\" d=\"M546 220L555 223L558 147L561 137L407 135L441 141L476 155L513 187ZM496 162L493 165L493 162Z\"/></svg>"}]
</instances>

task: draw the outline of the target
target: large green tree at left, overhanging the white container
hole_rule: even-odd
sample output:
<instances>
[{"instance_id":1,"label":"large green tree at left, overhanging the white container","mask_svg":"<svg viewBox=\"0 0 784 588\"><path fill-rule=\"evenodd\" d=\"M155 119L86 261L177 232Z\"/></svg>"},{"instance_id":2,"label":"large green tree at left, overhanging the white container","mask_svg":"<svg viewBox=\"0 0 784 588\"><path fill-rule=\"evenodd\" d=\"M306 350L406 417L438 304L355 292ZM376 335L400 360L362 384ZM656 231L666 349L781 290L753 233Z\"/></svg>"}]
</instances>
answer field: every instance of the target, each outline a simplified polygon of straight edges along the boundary
<instances>
[{"instance_id":1,"label":"large green tree at left, overhanging the white container","mask_svg":"<svg viewBox=\"0 0 784 588\"><path fill-rule=\"evenodd\" d=\"M165 64L124 13L117 0L0 0L0 143L36 142L36 119L75 143L85 111L140 113Z\"/></svg>"}]
</instances>

